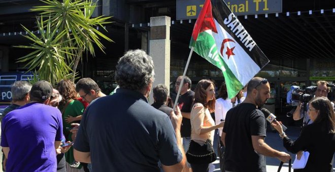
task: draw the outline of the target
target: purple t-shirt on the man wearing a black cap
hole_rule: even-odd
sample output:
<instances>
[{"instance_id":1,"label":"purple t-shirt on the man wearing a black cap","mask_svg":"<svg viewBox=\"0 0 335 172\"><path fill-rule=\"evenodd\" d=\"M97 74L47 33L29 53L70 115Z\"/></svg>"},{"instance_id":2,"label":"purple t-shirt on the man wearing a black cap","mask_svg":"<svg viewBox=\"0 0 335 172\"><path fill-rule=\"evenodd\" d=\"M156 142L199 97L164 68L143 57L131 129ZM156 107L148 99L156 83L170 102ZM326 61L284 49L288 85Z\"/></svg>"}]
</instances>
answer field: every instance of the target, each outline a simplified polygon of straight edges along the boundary
<instances>
[{"instance_id":1,"label":"purple t-shirt on the man wearing a black cap","mask_svg":"<svg viewBox=\"0 0 335 172\"><path fill-rule=\"evenodd\" d=\"M1 128L1 146L10 147L6 171L56 171L54 142L63 136L57 108L28 103L8 113Z\"/></svg>"}]
</instances>

